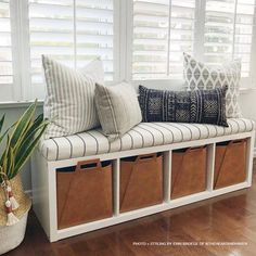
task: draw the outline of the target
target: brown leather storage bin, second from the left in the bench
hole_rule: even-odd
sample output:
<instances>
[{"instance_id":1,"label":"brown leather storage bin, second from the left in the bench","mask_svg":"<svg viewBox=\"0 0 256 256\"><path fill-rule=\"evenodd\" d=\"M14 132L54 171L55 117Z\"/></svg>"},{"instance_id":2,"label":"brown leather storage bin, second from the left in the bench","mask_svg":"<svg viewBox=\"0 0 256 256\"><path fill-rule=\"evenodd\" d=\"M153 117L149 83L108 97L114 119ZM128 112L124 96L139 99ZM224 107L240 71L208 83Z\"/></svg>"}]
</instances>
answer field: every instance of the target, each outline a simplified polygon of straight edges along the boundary
<instances>
[{"instance_id":1,"label":"brown leather storage bin, second from the left in the bench","mask_svg":"<svg viewBox=\"0 0 256 256\"><path fill-rule=\"evenodd\" d=\"M120 212L163 202L163 156L148 154L120 161Z\"/></svg>"}]
</instances>

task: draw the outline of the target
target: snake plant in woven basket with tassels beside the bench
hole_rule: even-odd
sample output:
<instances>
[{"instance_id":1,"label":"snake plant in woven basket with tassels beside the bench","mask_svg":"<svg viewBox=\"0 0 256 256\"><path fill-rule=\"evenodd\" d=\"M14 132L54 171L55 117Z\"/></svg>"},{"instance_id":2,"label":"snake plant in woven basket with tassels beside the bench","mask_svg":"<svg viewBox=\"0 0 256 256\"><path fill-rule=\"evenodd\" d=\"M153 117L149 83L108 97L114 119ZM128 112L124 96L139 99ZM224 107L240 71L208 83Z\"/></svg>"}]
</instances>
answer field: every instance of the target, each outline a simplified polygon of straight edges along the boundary
<instances>
[{"instance_id":1,"label":"snake plant in woven basket with tassels beside the bench","mask_svg":"<svg viewBox=\"0 0 256 256\"><path fill-rule=\"evenodd\" d=\"M25 235L31 201L24 193L20 172L49 124L42 114L35 118L36 107L37 101L3 133L4 116L0 120L0 143L5 138L0 158L0 254L15 248Z\"/></svg>"}]
</instances>

